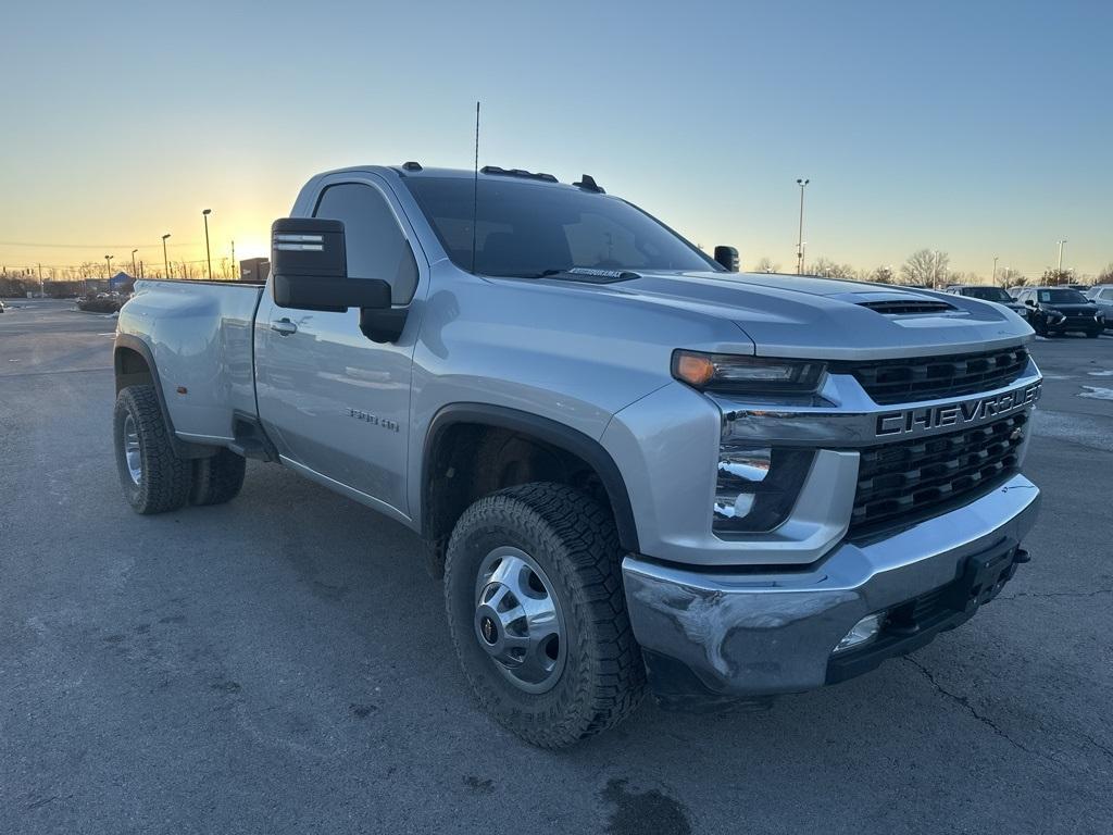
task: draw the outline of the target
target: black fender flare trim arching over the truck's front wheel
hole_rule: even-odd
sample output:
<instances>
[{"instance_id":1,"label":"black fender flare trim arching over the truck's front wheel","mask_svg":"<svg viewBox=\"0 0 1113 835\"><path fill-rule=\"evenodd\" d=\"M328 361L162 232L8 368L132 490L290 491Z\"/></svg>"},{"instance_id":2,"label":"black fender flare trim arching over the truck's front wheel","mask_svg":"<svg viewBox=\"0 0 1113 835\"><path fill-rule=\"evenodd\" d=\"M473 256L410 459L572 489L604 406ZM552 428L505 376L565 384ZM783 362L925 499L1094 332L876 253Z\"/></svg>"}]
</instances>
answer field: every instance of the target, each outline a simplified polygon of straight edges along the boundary
<instances>
[{"instance_id":1,"label":"black fender flare trim arching over the truck's front wheel","mask_svg":"<svg viewBox=\"0 0 1113 835\"><path fill-rule=\"evenodd\" d=\"M430 514L426 512L430 507L429 493L433 481L433 456L431 453L436 449L444 431L459 423L477 423L521 432L581 459L599 474L600 481L603 483L607 498L614 511L614 524L618 528L620 544L626 551L638 553L638 525L634 522L626 480L622 478L618 464L614 463L614 459L603 449L603 445L590 435L564 423L490 403L451 403L442 406L430 421L429 430L425 432L425 445L422 450L423 533L429 534L429 525L432 523Z\"/></svg>"}]
</instances>

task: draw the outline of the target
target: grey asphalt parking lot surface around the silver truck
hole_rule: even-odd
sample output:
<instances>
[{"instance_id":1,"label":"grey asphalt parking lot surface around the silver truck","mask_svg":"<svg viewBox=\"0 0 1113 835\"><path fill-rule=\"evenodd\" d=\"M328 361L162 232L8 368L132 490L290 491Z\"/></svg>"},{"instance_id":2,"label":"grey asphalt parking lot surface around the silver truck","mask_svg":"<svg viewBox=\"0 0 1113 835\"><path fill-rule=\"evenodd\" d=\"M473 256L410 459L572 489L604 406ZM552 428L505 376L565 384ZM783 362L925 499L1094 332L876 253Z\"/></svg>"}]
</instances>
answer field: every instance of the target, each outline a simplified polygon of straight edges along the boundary
<instances>
[{"instance_id":1,"label":"grey asphalt parking lot surface around the silver truck","mask_svg":"<svg viewBox=\"0 0 1113 835\"><path fill-rule=\"evenodd\" d=\"M1041 523L964 628L764 713L572 750L489 721L401 525L278 466L141 518L115 321L0 314L2 833L1107 833L1113 337L1041 340Z\"/></svg>"}]
</instances>

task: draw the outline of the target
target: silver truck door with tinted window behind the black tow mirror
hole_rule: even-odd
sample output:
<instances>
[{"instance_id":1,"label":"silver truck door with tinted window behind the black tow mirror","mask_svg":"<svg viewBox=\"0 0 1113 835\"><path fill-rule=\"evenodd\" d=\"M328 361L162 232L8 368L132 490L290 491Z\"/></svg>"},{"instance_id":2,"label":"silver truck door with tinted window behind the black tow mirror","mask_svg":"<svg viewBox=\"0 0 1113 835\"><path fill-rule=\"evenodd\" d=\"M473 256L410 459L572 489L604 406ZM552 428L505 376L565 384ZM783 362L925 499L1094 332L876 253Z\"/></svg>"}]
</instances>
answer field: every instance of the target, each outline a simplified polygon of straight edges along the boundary
<instances>
[{"instance_id":1,"label":"silver truck door with tinted window behind the black tow mirror","mask_svg":"<svg viewBox=\"0 0 1113 835\"><path fill-rule=\"evenodd\" d=\"M404 215L374 175L343 177L324 181L314 217L344 222L351 277L383 278L395 305L410 304L421 283L420 250L410 244ZM306 475L408 517L415 312L397 342L378 344L359 332L358 310L283 308L267 287L256 318L256 393L259 419L279 453Z\"/></svg>"}]
</instances>

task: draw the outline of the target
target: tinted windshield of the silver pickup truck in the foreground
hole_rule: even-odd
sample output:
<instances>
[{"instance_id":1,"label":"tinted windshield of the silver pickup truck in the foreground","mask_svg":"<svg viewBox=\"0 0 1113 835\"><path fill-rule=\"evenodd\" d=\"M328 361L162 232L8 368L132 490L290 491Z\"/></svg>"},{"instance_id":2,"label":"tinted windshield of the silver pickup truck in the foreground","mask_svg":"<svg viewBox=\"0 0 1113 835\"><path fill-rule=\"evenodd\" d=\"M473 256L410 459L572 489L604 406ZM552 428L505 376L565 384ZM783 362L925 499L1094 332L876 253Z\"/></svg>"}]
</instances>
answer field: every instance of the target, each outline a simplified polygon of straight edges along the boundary
<instances>
[{"instance_id":1,"label":"tinted windshield of the silver pickup truck in the foreground","mask_svg":"<svg viewBox=\"0 0 1113 835\"><path fill-rule=\"evenodd\" d=\"M473 183L462 177L405 180L445 252L472 271ZM484 177L479 183L475 269L539 276L588 267L721 269L644 212L593 191Z\"/></svg>"}]
</instances>

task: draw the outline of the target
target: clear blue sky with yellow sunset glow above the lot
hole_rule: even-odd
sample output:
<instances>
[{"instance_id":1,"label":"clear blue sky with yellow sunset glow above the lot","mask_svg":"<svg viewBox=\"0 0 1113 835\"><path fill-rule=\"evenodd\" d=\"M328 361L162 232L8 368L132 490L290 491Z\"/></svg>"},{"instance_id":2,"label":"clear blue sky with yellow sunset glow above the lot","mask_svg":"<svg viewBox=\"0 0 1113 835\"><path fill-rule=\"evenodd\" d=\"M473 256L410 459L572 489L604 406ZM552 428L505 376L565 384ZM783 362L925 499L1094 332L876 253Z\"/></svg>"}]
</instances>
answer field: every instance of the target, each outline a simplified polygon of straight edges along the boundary
<instances>
[{"instance_id":1,"label":"clear blue sky with yellow sunset glow above the lot","mask_svg":"<svg viewBox=\"0 0 1113 835\"><path fill-rule=\"evenodd\" d=\"M679 9L680 11L673 11ZM0 265L267 254L361 163L587 171L743 267L1113 262L1113 3L4 3Z\"/></svg>"}]
</instances>

